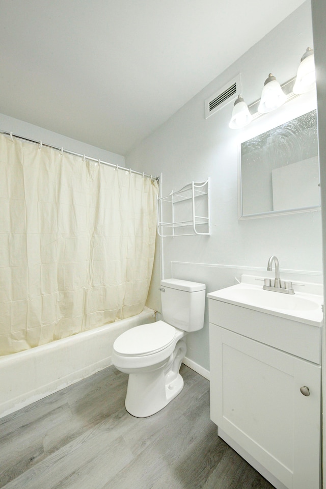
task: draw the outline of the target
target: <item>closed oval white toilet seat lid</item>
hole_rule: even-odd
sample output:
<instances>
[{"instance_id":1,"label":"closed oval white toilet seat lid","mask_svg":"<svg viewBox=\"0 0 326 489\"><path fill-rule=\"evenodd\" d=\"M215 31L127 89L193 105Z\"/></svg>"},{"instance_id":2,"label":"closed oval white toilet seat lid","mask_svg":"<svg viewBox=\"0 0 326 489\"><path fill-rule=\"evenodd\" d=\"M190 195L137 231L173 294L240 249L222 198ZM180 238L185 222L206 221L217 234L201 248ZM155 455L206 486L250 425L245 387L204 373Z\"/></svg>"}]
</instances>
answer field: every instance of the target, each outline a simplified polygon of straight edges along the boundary
<instances>
[{"instance_id":1,"label":"closed oval white toilet seat lid","mask_svg":"<svg viewBox=\"0 0 326 489\"><path fill-rule=\"evenodd\" d=\"M164 321L141 324L122 333L113 348L119 355L150 355L173 342L175 328Z\"/></svg>"}]
</instances>

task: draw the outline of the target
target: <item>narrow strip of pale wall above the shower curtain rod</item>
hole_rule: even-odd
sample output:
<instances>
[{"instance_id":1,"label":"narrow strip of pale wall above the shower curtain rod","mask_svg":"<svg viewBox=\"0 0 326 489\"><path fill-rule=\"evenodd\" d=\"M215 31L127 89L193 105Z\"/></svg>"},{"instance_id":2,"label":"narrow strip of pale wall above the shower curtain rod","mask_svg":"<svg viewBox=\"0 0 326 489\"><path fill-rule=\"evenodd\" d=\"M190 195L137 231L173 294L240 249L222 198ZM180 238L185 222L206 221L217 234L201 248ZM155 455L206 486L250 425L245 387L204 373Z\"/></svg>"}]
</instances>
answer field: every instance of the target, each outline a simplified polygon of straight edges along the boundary
<instances>
[{"instance_id":1,"label":"narrow strip of pale wall above the shower curtain rod","mask_svg":"<svg viewBox=\"0 0 326 489\"><path fill-rule=\"evenodd\" d=\"M35 126L29 122L20 121L13 117L0 114L0 130L5 132L12 132L23 138L30 139L32 141L42 141L45 144L51 146L64 148L74 153L85 154L90 158L101 159L114 165L121 167L125 166L124 156L111 151L106 151L96 146L77 141L75 139L67 138L57 132L52 132L42 127Z\"/></svg>"}]
</instances>

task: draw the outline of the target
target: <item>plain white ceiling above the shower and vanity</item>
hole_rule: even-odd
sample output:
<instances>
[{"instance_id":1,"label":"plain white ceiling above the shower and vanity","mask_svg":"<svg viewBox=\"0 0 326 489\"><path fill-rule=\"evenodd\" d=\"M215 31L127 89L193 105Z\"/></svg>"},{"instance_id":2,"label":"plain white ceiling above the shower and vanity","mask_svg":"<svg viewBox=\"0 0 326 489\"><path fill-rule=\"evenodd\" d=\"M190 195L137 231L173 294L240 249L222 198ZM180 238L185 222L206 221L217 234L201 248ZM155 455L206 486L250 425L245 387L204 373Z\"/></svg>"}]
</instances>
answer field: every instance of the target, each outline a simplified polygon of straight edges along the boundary
<instances>
[{"instance_id":1,"label":"plain white ceiling above the shower and vanity","mask_svg":"<svg viewBox=\"0 0 326 489\"><path fill-rule=\"evenodd\" d=\"M303 1L0 0L0 112L125 155Z\"/></svg>"}]
</instances>

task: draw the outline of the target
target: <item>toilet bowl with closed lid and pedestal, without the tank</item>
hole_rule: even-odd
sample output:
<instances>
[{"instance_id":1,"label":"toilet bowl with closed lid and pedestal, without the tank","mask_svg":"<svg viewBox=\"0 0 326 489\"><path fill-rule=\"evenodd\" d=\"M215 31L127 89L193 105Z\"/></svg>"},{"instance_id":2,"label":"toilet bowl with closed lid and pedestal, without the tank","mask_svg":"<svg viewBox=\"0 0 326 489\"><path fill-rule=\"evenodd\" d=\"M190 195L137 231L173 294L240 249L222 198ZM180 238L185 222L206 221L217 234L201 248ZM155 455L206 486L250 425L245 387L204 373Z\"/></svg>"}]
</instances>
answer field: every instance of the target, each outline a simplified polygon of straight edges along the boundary
<instances>
[{"instance_id":1,"label":"toilet bowl with closed lid and pedestal, without the tank","mask_svg":"<svg viewBox=\"0 0 326 489\"><path fill-rule=\"evenodd\" d=\"M138 418L151 416L182 390L179 369L186 352L185 334L157 321L132 328L116 340L112 362L129 374L125 399L128 413Z\"/></svg>"}]
</instances>

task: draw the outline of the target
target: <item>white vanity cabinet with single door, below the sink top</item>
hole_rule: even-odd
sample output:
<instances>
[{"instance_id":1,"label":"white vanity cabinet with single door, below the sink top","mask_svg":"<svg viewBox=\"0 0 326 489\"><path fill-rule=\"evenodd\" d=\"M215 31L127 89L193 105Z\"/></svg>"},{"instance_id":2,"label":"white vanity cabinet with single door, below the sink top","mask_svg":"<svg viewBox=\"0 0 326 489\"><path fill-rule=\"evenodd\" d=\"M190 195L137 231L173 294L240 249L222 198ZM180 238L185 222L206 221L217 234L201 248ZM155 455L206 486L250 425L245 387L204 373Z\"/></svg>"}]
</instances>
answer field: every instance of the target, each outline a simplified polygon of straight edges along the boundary
<instances>
[{"instance_id":1,"label":"white vanity cabinet with single door, below the sink top","mask_svg":"<svg viewBox=\"0 0 326 489\"><path fill-rule=\"evenodd\" d=\"M320 326L208 297L219 436L278 489L319 489Z\"/></svg>"}]
</instances>

